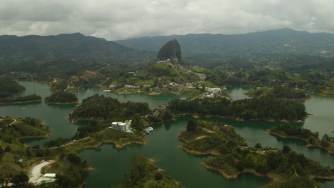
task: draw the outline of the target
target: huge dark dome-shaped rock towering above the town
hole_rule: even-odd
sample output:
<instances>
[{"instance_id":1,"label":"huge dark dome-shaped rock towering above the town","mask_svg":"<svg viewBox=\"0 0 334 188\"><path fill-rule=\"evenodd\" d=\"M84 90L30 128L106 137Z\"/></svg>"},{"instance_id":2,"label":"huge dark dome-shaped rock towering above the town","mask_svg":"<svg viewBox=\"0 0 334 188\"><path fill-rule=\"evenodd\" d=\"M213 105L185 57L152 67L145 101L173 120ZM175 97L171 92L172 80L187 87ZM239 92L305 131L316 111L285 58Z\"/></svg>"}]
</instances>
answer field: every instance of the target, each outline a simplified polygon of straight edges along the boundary
<instances>
[{"instance_id":1,"label":"huge dark dome-shaped rock towering above the town","mask_svg":"<svg viewBox=\"0 0 334 188\"><path fill-rule=\"evenodd\" d=\"M158 52L158 61L170 59L174 63L180 63L182 60L181 46L176 39L168 41Z\"/></svg>"}]
</instances>

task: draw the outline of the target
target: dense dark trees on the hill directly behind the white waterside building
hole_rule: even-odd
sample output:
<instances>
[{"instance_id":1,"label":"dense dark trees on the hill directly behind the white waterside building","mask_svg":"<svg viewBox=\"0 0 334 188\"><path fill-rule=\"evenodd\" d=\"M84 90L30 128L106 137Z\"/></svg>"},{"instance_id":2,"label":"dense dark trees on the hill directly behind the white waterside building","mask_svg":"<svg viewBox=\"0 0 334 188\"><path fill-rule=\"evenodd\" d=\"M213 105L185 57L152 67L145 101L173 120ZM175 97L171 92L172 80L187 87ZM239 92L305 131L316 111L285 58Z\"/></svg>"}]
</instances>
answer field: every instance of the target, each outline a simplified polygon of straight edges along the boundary
<instances>
[{"instance_id":1,"label":"dense dark trees on the hill directly behind the white waterside building","mask_svg":"<svg viewBox=\"0 0 334 188\"><path fill-rule=\"evenodd\" d=\"M81 105L74 109L70 118L100 118L104 120L123 121L131 119L134 115L146 115L151 113L148 103L126 102L120 103L115 98L104 95L93 95L82 101Z\"/></svg>"}]
</instances>

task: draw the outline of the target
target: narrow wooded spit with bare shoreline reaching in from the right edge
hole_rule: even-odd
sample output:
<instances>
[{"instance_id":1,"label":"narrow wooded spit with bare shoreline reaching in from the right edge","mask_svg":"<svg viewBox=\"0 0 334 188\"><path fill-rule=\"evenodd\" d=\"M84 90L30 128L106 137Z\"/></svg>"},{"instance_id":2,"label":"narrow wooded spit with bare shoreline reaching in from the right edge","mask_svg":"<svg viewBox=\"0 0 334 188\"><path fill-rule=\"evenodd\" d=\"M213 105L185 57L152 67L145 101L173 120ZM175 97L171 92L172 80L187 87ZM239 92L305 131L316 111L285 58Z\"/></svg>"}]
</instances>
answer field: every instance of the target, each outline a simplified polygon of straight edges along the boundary
<instances>
[{"instance_id":1,"label":"narrow wooded spit with bare shoreline reaching in from the right edge","mask_svg":"<svg viewBox=\"0 0 334 188\"><path fill-rule=\"evenodd\" d=\"M304 140L308 143L308 147L320 147L334 154L334 137L330 137L328 134L323 135L320 139L319 132L312 132L308 129L289 124L272 127L269 133L283 138Z\"/></svg>"}]
</instances>

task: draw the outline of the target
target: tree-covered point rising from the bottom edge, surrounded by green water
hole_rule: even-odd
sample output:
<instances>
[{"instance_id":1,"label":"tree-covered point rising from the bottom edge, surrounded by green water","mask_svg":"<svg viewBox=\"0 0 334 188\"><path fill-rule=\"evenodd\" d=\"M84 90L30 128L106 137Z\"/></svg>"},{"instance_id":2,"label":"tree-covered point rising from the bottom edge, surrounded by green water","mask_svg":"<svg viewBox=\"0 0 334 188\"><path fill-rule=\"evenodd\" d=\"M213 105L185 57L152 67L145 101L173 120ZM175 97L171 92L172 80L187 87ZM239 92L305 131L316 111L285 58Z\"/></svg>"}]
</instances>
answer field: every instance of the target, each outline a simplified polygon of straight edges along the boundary
<instances>
[{"instance_id":1,"label":"tree-covered point rising from the bottom edge, surrounded by green water","mask_svg":"<svg viewBox=\"0 0 334 188\"><path fill-rule=\"evenodd\" d=\"M158 187L158 188L177 188L181 187L171 177L163 176L158 172L158 167L154 166L143 155L133 155L131 159L132 169L126 173L123 182L117 188L133 187Z\"/></svg>"}]
</instances>

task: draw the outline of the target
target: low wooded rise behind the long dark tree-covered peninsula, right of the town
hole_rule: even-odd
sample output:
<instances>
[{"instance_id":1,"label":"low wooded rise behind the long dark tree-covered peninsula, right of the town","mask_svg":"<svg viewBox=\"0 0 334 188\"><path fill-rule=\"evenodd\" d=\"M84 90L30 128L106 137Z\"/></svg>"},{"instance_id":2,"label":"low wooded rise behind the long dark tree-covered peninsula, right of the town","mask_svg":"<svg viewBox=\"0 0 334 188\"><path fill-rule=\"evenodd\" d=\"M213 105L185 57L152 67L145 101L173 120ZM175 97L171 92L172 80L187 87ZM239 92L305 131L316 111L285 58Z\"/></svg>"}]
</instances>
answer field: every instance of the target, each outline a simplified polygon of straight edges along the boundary
<instances>
[{"instance_id":1,"label":"low wooded rise behind the long dark tree-covered peninsula, right of the town","mask_svg":"<svg viewBox=\"0 0 334 188\"><path fill-rule=\"evenodd\" d=\"M285 99L300 99L305 100L310 98L301 90L288 88L286 86L274 86L273 88L258 88L251 90L246 95L252 97L271 97L271 98L285 98Z\"/></svg>"}]
</instances>

